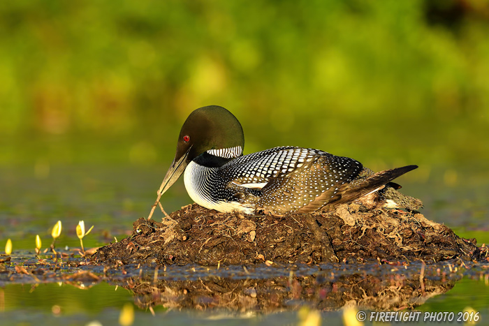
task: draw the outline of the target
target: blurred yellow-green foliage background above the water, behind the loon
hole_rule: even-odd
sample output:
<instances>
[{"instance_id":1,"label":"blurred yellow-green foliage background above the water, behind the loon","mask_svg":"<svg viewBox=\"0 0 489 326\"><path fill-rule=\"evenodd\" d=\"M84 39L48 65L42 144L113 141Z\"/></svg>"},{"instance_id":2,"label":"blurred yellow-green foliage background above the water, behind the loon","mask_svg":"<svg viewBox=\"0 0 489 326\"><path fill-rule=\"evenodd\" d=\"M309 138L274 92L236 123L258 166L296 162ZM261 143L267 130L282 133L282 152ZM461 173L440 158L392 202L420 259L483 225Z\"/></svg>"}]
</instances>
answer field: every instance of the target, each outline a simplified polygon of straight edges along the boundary
<instances>
[{"instance_id":1,"label":"blurred yellow-green foliage background above the water, behind the loon","mask_svg":"<svg viewBox=\"0 0 489 326\"><path fill-rule=\"evenodd\" d=\"M487 0L2 1L0 164L162 177L189 112L215 104L245 153L314 147L453 183L489 158L488 27Z\"/></svg>"}]
</instances>

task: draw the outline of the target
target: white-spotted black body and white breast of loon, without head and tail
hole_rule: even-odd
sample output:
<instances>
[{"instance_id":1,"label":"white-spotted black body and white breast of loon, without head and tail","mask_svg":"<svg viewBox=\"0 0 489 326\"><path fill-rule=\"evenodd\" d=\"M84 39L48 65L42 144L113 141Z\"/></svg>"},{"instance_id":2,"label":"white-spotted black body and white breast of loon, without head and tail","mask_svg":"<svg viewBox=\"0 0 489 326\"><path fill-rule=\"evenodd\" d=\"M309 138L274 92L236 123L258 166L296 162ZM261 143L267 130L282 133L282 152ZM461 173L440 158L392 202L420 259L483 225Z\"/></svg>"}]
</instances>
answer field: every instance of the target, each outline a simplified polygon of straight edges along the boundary
<instances>
[{"instance_id":1,"label":"white-spotted black body and white breast of loon, without head and tail","mask_svg":"<svg viewBox=\"0 0 489 326\"><path fill-rule=\"evenodd\" d=\"M228 158L224 155L230 152L222 149L207 154ZM247 214L265 208L283 214L306 207L323 193L335 198L340 187L361 170L358 161L326 151L275 147L238 156L220 167L191 162L184 180L190 197L207 208Z\"/></svg>"}]
</instances>

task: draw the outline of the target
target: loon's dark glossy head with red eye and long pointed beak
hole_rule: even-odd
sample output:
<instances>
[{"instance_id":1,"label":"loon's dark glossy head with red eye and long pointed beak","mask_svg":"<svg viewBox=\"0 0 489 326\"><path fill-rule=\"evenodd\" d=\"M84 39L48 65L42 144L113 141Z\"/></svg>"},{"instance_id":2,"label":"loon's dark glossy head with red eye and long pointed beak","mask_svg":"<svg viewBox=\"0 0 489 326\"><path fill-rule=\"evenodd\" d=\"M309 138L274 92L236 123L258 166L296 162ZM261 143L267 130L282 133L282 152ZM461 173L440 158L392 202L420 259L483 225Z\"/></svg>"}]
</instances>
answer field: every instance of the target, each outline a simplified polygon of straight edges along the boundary
<instances>
[{"instance_id":1,"label":"loon's dark glossy head with red eye and long pointed beak","mask_svg":"<svg viewBox=\"0 0 489 326\"><path fill-rule=\"evenodd\" d=\"M177 140L177 152L173 163L166 172L159 193L162 195L182 175L194 158L208 152L226 158L240 156L245 146L245 136L240 121L217 105L205 106L191 112L185 120ZM229 151L233 154L229 156ZM220 151L223 150L223 151Z\"/></svg>"}]
</instances>

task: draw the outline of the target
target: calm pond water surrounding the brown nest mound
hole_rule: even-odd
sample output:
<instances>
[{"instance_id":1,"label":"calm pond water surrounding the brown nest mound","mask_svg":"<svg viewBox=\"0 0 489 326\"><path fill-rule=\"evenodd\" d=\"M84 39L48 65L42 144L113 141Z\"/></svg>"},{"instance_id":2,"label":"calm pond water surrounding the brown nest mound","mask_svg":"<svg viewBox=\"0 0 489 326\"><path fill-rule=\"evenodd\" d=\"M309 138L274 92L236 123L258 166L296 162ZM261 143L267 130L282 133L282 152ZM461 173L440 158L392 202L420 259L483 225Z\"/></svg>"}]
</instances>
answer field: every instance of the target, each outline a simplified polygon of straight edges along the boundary
<instances>
[{"instance_id":1,"label":"calm pond water surrounding the brown nest mound","mask_svg":"<svg viewBox=\"0 0 489 326\"><path fill-rule=\"evenodd\" d=\"M131 232L133 221L147 216L164 172L156 167L100 165L0 168L0 249L3 251L6 239L10 238L14 250L13 261L8 268L36 264L33 254L35 236L41 236L43 249L48 247L52 242L50 229L58 220L63 223L63 232L56 246L66 253L73 253L71 249L80 245L75 234L75 226L80 220L85 221L87 228L94 225L92 233L84 239L87 248L113 242L114 237L126 237ZM441 170L438 175L433 172L423 182L409 183L409 179L403 179L400 183L405 193L423 199L423 214L427 218L445 223L462 237L476 237L479 245L489 243L488 176L485 172L471 169L458 173L455 181L453 175L447 179L446 173ZM167 212L190 202L181 181L162 198L162 202ZM159 216L161 213L156 213L155 218ZM76 257L78 255L73 259L81 259ZM22 279L10 281L8 271L0 273L0 325L97 325L95 322L118 325L122 306L128 303L135 309L137 324L161 325L164 320L166 325L297 325L301 306L321 307L321 300L317 299L321 292L315 291L323 286L325 280L328 283L327 278L332 272L335 276L330 281L334 284L352 275L360 280L365 279L363 269L370 273L368 277L382 282L388 280L390 274L413 274L411 276L415 280L420 267L168 267L168 270L158 272L158 282L154 283L154 288L165 285L167 289L179 291L182 288L178 282L187 281L190 282L188 291L191 292L192 288L202 284L209 286L208 282L212 280L212 284L221 284L221 281L215 281L217 279L235 282L235 287L242 286L242 282L251 282L245 284L244 294L236 298L256 298L260 306L265 302L263 297L266 295L270 295L266 302L273 302L273 289L282 282L282 290L291 299L278 301L276 308L262 304L261 309L232 309L232 302L227 306L215 304L212 307L214 303L209 305L205 300L200 304L175 305L175 300L161 295L165 292L160 288L154 290L154 297L160 301L153 306L152 312L145 308L151 296L138 294L137 289L145 282L152 284L154 268L128 267L124 271L126 274L121 269L113 269L109 276L94 281L89 277L63 279L65 275L73 275L80 269L64 267L66 269L57 270L53 264L48 262L46 266L50 266L54 272L45 278L36 276L38 280L25 275ZM489 320L487 264L450 272L454 266L440 267L448 275L445 281L440 281L435 270L427 272L427 288L435 284L438 290L444 290L430 292L428 299L424 298L425 302L416 309L423 313L460 312L470 307L480 312L482 320ZM84 270L98 276L104 274L100 267L86 267ZM299 295L294 299L293 284L306 289L310 279L316 282L314 284L319 284L316 288L308 288L309 292L316 293L316 297L310 297L310 293L308 296L304 290L305 296ZM138 280L143 282L138 283ZM265 282L263 284L266 286L261 286L261 282ZM232 288L228 292L233 293ZM213 298L213 302L218 302L218 299L223 300L222 297ZM337 307L331 305L329 309L321 310L324 325L326 322L328 325L342 325L342 311L338 311Z\"/></svg>"}]
</instances>

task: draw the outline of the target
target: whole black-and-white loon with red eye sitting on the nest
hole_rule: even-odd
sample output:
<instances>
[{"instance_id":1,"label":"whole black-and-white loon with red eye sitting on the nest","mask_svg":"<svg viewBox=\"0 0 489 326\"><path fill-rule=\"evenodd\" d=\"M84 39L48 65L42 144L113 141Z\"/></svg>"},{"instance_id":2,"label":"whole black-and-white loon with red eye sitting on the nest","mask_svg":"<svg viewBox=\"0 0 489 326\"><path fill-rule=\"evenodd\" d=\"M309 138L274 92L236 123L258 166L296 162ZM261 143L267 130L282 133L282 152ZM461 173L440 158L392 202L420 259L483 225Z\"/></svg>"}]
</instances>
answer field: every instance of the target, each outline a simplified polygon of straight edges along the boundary
<instances>
[{"instance_id":1,"label":"whole black-and-white loon with red eye sitting on the nest","mask_svg":"<svg viewBox=\"0 0 489 326\"><path fill-rule=\"evenodd\" d=\"M183 173L190 198L208 209L278 215L314 212L353 202L418 168L407 165L374 173L353 158L291 146L243 156L244 145L240 122L225 108L211 105L191 112L159 197Z\"/></svg>"}]
</instances>

